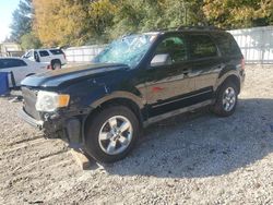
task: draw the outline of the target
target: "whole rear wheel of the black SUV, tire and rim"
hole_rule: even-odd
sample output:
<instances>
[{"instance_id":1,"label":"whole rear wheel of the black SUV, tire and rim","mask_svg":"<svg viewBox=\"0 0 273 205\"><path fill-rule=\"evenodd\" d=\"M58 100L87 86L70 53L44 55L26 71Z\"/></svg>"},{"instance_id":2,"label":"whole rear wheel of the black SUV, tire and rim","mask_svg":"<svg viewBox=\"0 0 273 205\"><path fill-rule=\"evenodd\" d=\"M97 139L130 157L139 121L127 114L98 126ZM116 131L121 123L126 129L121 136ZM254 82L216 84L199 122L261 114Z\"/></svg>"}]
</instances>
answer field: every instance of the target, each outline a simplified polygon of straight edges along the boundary
<instances>
[{"instance_id":1,"label":"whole rear wheel of the black SUV, tire and rim","mask_svg":"<svg viewBox=\"0 0 273 205\"><path fill-rule=\"evenodd\" d=\"M212 110L219 117L232 116L235 112L237 101L238 87L232 81L227 81L219 87Z\"/></svg>"}]
</instances>

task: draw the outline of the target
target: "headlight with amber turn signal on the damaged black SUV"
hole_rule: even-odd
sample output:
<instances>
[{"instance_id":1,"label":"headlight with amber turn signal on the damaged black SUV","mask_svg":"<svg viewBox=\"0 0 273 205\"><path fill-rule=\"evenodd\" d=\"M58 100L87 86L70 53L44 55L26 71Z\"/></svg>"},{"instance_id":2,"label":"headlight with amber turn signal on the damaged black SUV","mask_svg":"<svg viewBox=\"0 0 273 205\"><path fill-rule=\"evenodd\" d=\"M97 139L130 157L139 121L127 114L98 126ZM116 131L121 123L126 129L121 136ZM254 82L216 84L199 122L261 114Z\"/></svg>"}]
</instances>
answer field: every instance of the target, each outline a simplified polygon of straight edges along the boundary
<instances>
[{"instance_id":1,"label":"headlight with amber turn signal on the damaged black SUV","mask_svg":"<svg viewBox=\"0 0 273 205\"><path fill-rule=\"evenodd\" d=\"M35 107L37 111L51 112L55 111L57 108L68 107L69 99L69 95L39 91Z\"/></svg>"}]
</instances>

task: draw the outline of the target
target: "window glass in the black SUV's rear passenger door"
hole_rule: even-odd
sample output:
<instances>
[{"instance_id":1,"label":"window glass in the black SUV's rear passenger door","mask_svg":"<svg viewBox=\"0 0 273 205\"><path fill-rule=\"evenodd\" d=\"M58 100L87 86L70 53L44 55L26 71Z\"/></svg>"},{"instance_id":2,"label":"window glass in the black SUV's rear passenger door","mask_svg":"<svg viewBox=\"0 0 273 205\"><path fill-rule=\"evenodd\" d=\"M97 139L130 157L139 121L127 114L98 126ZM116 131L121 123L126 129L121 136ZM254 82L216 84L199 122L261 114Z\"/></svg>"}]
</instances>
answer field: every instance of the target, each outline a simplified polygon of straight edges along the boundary
<instances>
[{"instance_id":1,"label":"window glass in the black SUV's rear passenger door","mask_svg":"<svg viewBox=\"0 0 273 205\"><path fill-rule=\"evenodd\" d=\"M217 48L207 35L190 35L189 53L191 59L217 57Z\"/></svg>"}]
</instances>

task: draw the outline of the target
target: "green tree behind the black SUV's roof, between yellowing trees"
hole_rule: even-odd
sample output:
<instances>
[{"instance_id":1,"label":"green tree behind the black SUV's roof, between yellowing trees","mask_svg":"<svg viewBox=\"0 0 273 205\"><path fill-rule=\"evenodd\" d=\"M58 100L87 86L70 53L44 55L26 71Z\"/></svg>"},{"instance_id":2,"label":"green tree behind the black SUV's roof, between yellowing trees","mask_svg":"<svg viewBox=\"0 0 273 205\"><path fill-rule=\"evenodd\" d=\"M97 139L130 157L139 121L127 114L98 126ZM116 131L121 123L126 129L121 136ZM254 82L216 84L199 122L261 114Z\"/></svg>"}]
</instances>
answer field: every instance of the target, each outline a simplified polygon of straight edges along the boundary
<instances>
[{"instance_id":1,"label":"green tree behind the black SUV's roof, between yellowing trees","mask_svg":"<svg viewBox=\"0 0 273 205\"><path fill-rule=\"evenodd\" d=\"M119 0L111 37L205 22L202 0Z\"/></svg>"}]
</instances>

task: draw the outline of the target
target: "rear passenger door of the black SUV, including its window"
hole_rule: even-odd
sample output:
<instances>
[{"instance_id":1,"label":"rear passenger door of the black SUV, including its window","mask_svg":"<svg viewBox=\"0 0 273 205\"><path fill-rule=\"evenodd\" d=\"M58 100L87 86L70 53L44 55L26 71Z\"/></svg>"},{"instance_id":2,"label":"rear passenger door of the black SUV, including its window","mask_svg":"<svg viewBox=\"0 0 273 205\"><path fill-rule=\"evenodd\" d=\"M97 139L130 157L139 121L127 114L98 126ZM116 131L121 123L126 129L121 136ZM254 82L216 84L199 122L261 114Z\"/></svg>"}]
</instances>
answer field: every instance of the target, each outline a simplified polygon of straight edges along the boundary
<instances>
[{"instance_id":1,"label":"rear passenger door of the black SUV, including its window","mask_svg":"<svg viewBox=\"0 0 273 205\"><path fill-rule=\"evenodd\" d=\"M199 95L199 100L203 101L212 98L213 86L224 63L219 50L209 34L188 34L186 38L194 92Z\"/></svg>"}]
</instances>

